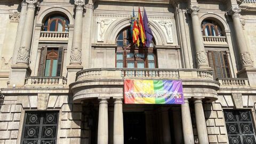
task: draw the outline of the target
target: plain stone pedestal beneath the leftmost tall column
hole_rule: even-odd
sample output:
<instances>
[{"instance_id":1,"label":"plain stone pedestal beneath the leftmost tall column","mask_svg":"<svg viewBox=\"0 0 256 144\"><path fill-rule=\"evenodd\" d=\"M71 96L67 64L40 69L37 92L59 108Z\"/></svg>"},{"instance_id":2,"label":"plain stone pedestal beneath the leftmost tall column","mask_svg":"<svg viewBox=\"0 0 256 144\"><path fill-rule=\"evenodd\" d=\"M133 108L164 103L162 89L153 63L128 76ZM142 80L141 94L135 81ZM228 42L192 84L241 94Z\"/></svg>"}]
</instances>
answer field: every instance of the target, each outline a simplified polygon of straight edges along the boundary
<instances>
[{"instance_id":1,"label":"plain stone pedestal beneath the leftmost tall column","mask_svg":"<svg viewBox=\"0 0 256 144\"><path fill-rule=\"evenodd\" d=\"M26 64L11 66L12 71L9 77L8 87L21 87L25 85L25 79L30 76L31 69Z\"/></svg>"}]
</instances>

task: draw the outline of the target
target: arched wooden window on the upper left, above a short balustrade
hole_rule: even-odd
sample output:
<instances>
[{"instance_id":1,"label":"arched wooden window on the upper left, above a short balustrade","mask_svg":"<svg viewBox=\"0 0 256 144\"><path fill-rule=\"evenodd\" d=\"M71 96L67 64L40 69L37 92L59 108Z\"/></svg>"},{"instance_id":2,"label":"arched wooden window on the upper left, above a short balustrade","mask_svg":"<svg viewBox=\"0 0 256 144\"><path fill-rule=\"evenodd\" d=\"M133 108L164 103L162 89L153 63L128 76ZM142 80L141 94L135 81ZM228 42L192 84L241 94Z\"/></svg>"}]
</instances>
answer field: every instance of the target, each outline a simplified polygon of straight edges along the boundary
<instances>
[{"instance_id":1,"label":"arched wooden window on the upper left, above a short balustrade","mask_svg":"<svg viewBox=\"0 0 256 144\"><path fill-rule=\"evenodd\" d=\"M68 32L69 20L61 14L50 15L44 22L44 31Z\"/></svg>"}]
</instances>

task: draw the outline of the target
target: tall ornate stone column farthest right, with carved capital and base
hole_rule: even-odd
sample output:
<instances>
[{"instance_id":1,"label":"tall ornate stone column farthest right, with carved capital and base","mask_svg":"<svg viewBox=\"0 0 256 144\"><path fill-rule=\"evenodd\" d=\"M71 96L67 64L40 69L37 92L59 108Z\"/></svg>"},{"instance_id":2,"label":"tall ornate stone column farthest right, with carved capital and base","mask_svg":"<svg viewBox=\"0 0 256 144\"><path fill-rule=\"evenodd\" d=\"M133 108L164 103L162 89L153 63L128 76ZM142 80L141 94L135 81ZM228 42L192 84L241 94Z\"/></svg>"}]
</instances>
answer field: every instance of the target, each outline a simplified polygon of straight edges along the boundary
<instances>
[{"instance_id":1,"label":"tall ornate stone column farthest right, with carved capital and base","mask_svg":"<svg viewBox=\"0 0 256 144\"><path fill-rule=\"evenodd\" d=\"M245 36L243 33L243 26L240 19L240 12L241 9L239 9L239 7L231 7L231 9L228 10L227 13L233 18L242 68L251 68L253 67L253 62L251 59L251 55L248 51L248 47L246 45Z\"/></svg>"}]
</instances>

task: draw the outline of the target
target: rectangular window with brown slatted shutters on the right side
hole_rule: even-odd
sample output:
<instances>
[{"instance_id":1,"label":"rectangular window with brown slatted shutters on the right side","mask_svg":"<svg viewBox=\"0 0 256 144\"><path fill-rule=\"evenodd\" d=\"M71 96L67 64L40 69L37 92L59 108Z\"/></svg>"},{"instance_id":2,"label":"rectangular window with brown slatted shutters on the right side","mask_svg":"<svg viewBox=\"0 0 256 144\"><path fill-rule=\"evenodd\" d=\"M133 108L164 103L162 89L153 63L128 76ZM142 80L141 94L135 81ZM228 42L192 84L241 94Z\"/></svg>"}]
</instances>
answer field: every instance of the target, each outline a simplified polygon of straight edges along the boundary
<instances>
[{"instance_id":1,"label":"rectangular window with brown slatted shutters on the right side","mask_svg":"<svg viewBox=\"0 0 256 144\"><path fill-rule=\"evenodd\" d=\"M227 78L230 76L230 68L227 52L208 51L209 66L213 68L213 78Z\"/></svg>"}]
</instances>

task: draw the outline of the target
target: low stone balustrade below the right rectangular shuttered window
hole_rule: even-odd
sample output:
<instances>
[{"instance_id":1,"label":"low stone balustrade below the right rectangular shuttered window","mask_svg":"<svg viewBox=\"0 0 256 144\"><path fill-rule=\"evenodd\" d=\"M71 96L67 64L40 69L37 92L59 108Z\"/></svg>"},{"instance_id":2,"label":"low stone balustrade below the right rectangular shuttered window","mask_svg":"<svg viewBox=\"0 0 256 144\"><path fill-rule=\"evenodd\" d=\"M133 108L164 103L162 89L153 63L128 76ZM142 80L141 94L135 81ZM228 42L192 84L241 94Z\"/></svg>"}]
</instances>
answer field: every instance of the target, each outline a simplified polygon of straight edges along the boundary
<instances>
[{"instance_id":1,"label":"low stone balustrade below the right rectangular shuttered window","mask_svg":"<svg viewBox=\"0 0 256 144\"><path fill-rule=\"evenodd\" d=\"M232 87L250 87L247 78L218 78L220 86Z\"/></svg>"}]
</instances>

